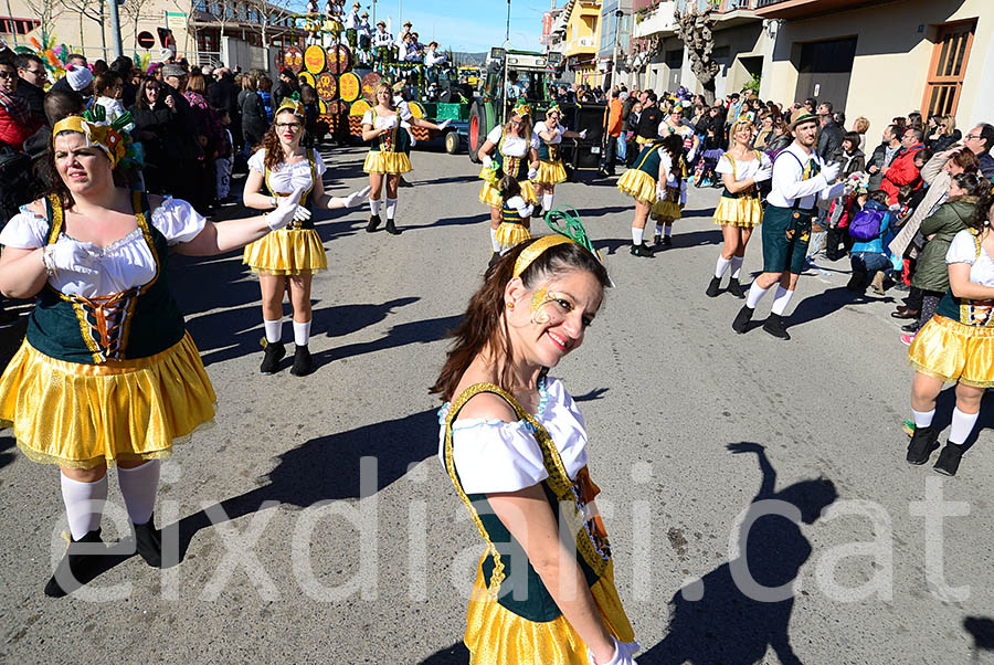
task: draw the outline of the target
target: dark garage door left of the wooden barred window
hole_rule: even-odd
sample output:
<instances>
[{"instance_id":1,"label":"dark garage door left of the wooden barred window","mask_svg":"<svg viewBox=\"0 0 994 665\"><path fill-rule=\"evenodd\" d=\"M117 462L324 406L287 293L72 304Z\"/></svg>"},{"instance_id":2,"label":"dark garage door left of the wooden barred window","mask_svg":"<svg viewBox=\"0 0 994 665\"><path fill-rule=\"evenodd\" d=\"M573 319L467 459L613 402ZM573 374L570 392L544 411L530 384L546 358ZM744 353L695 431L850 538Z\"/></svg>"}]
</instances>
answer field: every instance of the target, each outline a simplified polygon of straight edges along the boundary
<instances>
[{"instance_id":1,"label":"dark garage door left of the wooden barred window","mask_svg":"<svg viewBox=\"0 0 994 665\"><path fill-rule=\"evenodd\" d=\"M794 99L815 97L818 102L832 102L835 110L845 109L855 59L855 36L801 44Z\"/></svg>"}]
</instances>

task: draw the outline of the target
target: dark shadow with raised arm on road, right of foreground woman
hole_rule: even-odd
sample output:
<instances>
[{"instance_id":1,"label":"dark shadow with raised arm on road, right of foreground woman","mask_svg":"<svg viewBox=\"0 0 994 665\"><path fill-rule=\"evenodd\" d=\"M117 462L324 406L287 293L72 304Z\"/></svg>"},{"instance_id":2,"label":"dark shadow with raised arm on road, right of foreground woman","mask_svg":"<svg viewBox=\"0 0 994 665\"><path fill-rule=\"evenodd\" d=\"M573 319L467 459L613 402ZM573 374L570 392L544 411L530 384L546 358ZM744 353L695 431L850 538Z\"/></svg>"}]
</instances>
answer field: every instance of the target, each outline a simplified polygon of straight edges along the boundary
<instances>
[{"instance_id":1,"label":"dark shadow with raised arm on road, right of foreground woman","mask_svg":"<svg viewBox=\"0 0 994 665\"><path fill-rule=\"evenodd\" d=\"M801 481L778 492L776 472L763 446L742 442L728 450L755 453L763 476L739 532L742 555L673 597L669 632L638 656L639 665L752 665L763 661L768 647L784 665L801 663L789 634L792 584L812 548L799 525L817 520L838 494L825 478ZM778 503L760 503L770 500ZM743 587L750 577L768 589L747 594ZM780 593L770 598L778 588Z\"/></svg>"}]
</instances>

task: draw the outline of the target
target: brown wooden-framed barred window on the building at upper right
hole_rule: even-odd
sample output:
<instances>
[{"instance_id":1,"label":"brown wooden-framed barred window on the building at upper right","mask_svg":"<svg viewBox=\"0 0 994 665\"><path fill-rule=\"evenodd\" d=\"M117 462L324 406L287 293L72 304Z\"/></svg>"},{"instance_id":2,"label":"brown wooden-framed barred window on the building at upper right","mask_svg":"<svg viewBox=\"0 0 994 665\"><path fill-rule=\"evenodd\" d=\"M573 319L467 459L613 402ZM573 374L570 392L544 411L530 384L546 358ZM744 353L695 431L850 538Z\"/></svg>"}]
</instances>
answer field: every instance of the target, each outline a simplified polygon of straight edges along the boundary
<instances>
[{"instance_id":1,"label":"brown wooden-framed barred window on the building at upper right","mask_svg":"<svg viewBox=\"0 0 994 665\"><path fill-rule=\"evenodd\" d=\"M955 115L966 76L966 61L973 45L976 20L945 23L938 27L932 61L926 82L921 113L933 115Z\"/></svg>"}]
</instances>

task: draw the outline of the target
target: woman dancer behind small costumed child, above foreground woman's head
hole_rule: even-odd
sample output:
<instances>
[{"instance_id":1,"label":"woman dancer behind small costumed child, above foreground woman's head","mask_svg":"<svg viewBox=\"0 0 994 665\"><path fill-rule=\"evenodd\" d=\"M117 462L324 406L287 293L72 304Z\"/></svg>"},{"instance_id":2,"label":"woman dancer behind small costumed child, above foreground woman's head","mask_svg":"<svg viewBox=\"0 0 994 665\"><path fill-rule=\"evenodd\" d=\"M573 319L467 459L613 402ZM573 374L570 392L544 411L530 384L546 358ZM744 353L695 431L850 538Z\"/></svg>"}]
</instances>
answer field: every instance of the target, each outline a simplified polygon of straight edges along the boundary
<instances>
[{"instance_id":1,"label":"woman dancer behind small costumed child, above foreground woman's head","mask_svg":"<svg viewBox=\"0 0 994 665\"><path fill-rule=\"evenodd\" d=\"M535 205L538 197L535 193L535 184L531 180L538 171L538 149L531 138L531 105L525 99L519 99L511 110L510 117L503 127L494 127L487 135L487 140L477 151L483 170L483 188L479 191L479 202L490 208L490 246L494 250L491 263L500 253L497 244L497 229L500 226L503 202L497 183L505 175L514 176L521 188L521 198ZM525 222L529 228L530 220Z\"/></svg>"}]
</instances>

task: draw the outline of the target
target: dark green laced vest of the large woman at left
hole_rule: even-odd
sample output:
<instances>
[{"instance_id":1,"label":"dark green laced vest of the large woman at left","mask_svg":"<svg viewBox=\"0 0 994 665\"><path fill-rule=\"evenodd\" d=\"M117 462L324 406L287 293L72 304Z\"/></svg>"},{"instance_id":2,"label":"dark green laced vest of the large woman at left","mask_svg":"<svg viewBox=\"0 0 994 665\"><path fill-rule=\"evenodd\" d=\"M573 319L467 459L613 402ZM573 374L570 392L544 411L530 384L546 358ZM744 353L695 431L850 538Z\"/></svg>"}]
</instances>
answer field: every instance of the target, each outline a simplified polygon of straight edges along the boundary
<instances>
[{"instance_id":1,"label":"dark green laced vest of the large woman at left","mask_svg":"<svg viewBox=\"0 0 994 665\"><path fill-rule=\"evenodd\" d=\"M138 228L156 261L156 276L142 286L96 298L68 296L45 285L28 319L28 344L38 351L56 360L101 365L155 356L183 338L183 315L166 276L166 236L149 223L145 194L133 196ZM50 196L45 208L47 244L54 244L64 225L59 197Z\"/></svg>"}]
</instances>

